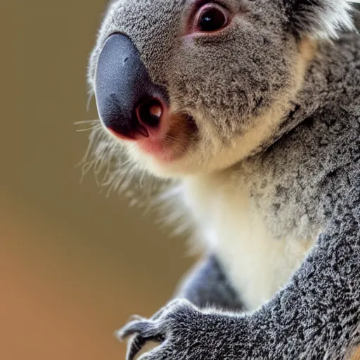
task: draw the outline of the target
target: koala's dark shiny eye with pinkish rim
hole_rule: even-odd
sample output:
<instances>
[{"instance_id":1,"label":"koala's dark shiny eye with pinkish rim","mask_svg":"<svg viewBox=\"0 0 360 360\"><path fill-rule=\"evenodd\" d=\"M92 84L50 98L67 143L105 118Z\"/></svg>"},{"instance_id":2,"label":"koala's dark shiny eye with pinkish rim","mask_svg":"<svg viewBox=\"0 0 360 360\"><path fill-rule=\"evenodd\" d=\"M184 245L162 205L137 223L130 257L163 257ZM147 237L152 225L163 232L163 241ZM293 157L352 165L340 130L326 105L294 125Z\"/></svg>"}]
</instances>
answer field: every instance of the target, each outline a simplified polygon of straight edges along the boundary
<instances>
[{"instance_id":1,"label":"koala's dark shiny eye with pinkish rim","mask_svg":"<svg viewBox=\"0 0 360 360\"><path fill-rule=\"evenodd\" d=\"M202 6L196 18L195 31L214 32L221 30L228 23L226 9L218 4L205 4Z\"/></svg>"}]
</instances>

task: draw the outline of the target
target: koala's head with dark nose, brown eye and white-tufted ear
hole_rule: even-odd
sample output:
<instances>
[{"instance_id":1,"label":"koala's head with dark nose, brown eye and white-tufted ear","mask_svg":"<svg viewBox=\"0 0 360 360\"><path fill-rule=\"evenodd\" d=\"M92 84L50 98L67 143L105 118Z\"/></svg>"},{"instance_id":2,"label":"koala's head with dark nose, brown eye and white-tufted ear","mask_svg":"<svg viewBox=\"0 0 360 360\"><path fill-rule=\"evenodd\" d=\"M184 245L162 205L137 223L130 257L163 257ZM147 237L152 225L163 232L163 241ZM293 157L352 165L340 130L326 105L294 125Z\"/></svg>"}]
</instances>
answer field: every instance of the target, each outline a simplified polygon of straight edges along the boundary
<instances>
[{"instance_id":1,"label":"koala's head with dark nose, brown eye and white-tufted ear","mask_svg":"<svg viewBox=\"0 0 360 360\"><path fill-rule=\"evenodd\" d=\"M117 0L89 66L98 111L159 176L213 172L268 139L316 39L352 27L345 0Z\"/></svg>"}]
</instances>

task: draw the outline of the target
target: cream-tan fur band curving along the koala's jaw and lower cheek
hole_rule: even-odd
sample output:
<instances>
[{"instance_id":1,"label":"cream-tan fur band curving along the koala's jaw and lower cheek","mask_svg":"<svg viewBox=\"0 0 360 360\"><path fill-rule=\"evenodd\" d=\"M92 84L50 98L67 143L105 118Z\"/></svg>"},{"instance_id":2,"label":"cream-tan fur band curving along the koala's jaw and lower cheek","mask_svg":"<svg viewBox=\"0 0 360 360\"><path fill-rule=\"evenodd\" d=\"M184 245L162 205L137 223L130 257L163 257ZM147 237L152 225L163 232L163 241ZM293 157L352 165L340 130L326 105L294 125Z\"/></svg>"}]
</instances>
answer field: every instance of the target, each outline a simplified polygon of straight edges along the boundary
<instances>
[{"instance_id":1,"label":"cream-tan fur band curving along the koala's jaw and lower cheek","mask_svg":"<svg viewBox=\"0 0 360 360\"><path fill-rule=\"evenodd\" d=\"M131 146L131 158L141 167L158 176L172 177L212 172L230 167L246 158L250 153L255 153L257 149L266 146L266 141L273 140L274 134L281 127L283 117L293 108L291 101L301 88L309 61L314 58L315 54L316 43L311 39L303 39L297 44L293 69L288 75L291 79L290 85L278 91L274 101L259 115L255 115L257 113L255 110L254 114L246 117L243 122L243 125L246 124L244 129L240 128L241 119L238 113L231 113L231 110L226 113L227 109L221 112L221 105L214 103L210 107L211 110L204 107L192 111L193 117L197 120L200 138L190 141L186 153L180 158L172 162L160 162L156 158L141 153L136 145ZM207 91L212 91L211 86ZM182 98L191 97L185 94ZM206 115L207 113L208 115ZM226 127L222 129L217 127L216 120L226 124L227 120L231 119L233 119L233 128L229 122L230 128L227 131L232 129L233 134L229 138L222 137L221 134L224 134ZM236 129L236 126L239 129Z\"/></svg>"}]
</instances>

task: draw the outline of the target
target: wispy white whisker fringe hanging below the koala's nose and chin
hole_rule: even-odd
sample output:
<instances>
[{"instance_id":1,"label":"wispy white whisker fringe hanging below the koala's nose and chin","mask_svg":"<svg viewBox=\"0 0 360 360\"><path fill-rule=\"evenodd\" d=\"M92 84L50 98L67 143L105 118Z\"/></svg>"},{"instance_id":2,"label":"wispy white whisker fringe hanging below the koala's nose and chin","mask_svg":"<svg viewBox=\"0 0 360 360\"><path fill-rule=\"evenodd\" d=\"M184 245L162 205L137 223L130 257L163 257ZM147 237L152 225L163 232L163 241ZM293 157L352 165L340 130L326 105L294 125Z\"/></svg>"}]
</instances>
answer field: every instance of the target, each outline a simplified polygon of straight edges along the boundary
<instances>
[{"instance_id":1,"label":"wispy white whisker fringe hanging below the koala's nose and chin","mask_svg":"<svg viewBox=\"0 0 360 360\"><path fill-rule=\"evenodd\" d=\"M160 215L162 229L172 226L172 236L186 233L191 226L184 209L179 209L176 202L178 186L172 181L156 179L155 176L134 164L127 156L124 146L105 131L100 120L77 122L77 125L94 125L91 131L89 146L84 158L79 162L82 171L81 181L90 169L94 172L96 184L105 196L111 193L122 194L129 199L129 206L143 208L143 215L156 210ZM174 223L175 226L174 226Z\"/></svg>"}]
</instances>

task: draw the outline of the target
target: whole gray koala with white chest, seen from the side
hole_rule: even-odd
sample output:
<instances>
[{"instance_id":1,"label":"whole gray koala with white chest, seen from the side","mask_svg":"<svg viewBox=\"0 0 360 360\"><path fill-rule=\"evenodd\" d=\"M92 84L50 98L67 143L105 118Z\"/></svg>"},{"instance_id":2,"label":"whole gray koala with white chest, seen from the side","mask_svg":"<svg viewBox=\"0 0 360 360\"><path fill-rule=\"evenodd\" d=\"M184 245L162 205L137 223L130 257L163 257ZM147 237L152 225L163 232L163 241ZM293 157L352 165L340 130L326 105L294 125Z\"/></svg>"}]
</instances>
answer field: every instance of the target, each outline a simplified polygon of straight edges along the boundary
<instances>
[{"instance_id":1,"label":"whole gray koala with white chest, seen from the side","mask_svg":"<svg viewBox=\"0 0 360 360\"><path fill-rule=\"evenodd\" d=\"M358 25L345 0L110 2L89 151L117 186L165 182L202 250L174 300L118 331L128 360L148 342L141 360L352 359Z\"/></svg>"}]
</instances>

